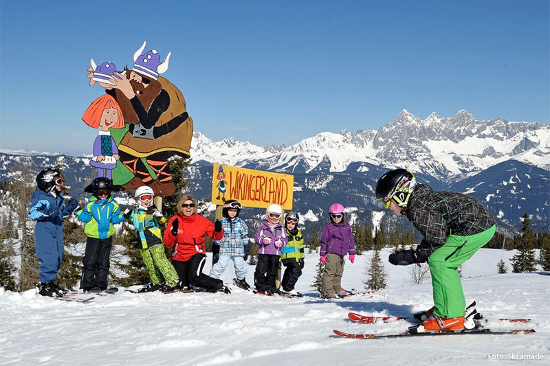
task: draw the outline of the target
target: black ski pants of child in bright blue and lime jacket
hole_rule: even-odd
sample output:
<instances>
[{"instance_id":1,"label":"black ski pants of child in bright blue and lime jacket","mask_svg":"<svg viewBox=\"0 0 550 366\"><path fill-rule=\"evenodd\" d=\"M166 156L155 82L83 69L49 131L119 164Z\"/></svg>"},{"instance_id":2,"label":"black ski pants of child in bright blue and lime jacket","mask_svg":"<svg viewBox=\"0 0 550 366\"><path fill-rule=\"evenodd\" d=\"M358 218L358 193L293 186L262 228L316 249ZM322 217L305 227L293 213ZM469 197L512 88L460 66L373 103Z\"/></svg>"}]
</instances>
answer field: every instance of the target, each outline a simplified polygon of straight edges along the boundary
<instances>
[{"instance_id":1,"label":"black ski pants of child in bright blue and lime jacket","mask_svg":"<svg viewBox=\"0 0 550 366\"><path fill-rule=\"evenodd\" d=\"M102 290L107 290L109 256L111 255L112 244L112 236L105 239L88 237L82 261L84 268L80 288L89 290L90 288L99 287Z\"/></svg>"}]
</instances>

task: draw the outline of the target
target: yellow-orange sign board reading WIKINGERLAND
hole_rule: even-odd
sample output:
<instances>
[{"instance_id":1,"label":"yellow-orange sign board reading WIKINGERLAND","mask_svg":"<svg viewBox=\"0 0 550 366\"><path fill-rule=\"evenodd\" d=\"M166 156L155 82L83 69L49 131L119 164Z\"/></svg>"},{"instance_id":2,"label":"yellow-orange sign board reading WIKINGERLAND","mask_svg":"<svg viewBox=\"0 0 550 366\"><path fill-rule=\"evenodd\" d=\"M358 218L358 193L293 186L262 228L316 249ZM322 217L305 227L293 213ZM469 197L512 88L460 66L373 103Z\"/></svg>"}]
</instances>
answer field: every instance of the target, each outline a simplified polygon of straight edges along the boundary
<instances>
[{"instance_id":1,"label":"yellow-orange sign board reading WIKINGERLAND","mask_svg":"<svg viewBox=\"0 0 550 366\"><path fill-rule=\"evenodd\" d=\"M292 209L294 176L214 164L212 203L236 200L245 207L267 207L276 203Z\"/></svg>"}]
</instances>

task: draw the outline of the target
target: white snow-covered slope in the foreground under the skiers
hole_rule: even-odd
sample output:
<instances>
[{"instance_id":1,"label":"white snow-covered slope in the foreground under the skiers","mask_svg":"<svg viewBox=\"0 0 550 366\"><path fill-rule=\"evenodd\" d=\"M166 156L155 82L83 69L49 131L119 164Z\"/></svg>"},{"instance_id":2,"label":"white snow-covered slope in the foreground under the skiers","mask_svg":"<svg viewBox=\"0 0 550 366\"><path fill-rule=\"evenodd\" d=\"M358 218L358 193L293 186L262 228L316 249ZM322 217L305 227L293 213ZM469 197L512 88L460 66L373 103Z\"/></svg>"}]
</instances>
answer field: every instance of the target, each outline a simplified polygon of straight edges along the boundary
<instances>
[{"instance_id":1,"label":"white snow-covered slope in the foreground under the skiers","mask_svg":"<svg viewBox=\"0 0 550 366\"><path fill-rule=\"evenodd\" d=\"M301 299L238 290L232 295L120 293L96 297L91 304L74 304L39 297L32 290L22 294L0 290L0 364L470 366L497 365L498 361L487 361L489 354L542 354L543 361L514 365L547 365L550 277L539 273L497 275L496 263L500 258L508 263L512 255L511 251L478 251L463 266L466 299L475 299L477 309L486 317L533 319L529 327L537 330L535 334L337 338L333 329L403 330L406 323L352 323L347 313L399 316L430 308L430 282L408 284L410 267L391 266L388 251L384 251L388 288L372 297L324 301L309 288L318 255L307 254L297 284L305 293ZM362 288L369 257L360 255L355 264L346 264L345 288ZM250 284L253 273L254 266L250 266ZM232 277L228 270L222 278L230 281Z\"/></svg>"}]
</instances>

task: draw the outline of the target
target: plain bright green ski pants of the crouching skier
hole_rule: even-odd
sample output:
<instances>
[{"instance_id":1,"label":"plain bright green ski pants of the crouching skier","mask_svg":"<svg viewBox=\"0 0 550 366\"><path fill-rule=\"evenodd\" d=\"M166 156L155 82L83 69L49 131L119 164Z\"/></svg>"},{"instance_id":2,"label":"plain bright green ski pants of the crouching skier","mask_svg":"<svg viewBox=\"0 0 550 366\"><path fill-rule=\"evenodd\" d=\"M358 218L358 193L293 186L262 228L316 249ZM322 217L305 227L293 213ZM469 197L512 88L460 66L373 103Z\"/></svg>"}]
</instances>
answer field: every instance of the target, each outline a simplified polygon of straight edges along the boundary
<instances>
[{"instance_id":1,"label":"plain bright green ski pants of the crouching skier","mask_svg":"<svg viewBox=\"0 0 550 366\"><path fill-rule=\"evenodd\" d=\"M428 258L434 291L434 314L442 318L463 317L466 301L458 266L469 260L494 236L496 226L470 236L450 235Z\"/></svg>"}]
</instances>

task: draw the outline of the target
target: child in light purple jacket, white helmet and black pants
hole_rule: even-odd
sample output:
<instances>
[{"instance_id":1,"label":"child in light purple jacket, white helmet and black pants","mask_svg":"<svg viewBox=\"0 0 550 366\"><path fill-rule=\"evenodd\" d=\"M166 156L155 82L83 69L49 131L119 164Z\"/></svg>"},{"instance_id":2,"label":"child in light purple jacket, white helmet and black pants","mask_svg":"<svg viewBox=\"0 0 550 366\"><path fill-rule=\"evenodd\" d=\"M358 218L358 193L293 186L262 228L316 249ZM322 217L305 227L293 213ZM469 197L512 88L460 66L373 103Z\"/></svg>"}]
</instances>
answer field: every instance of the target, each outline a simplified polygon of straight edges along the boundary
<instances>
[{"instance_id":1,"label":"child in light purple jacket, white helmet and black pants","mask_svg":"<svg viewBox=\"0 0 550 366\"><path fill-rule=\"evenodd\" d=\"M265 210L267 220L259 227L254 236L258 249L258 264L254 272L256 291L265 295L277 292L275 279L281 258L281 248L288 242L286 229L281 225L283 209L279 205L269 205Z\"/></svg>"}]
</instances>

